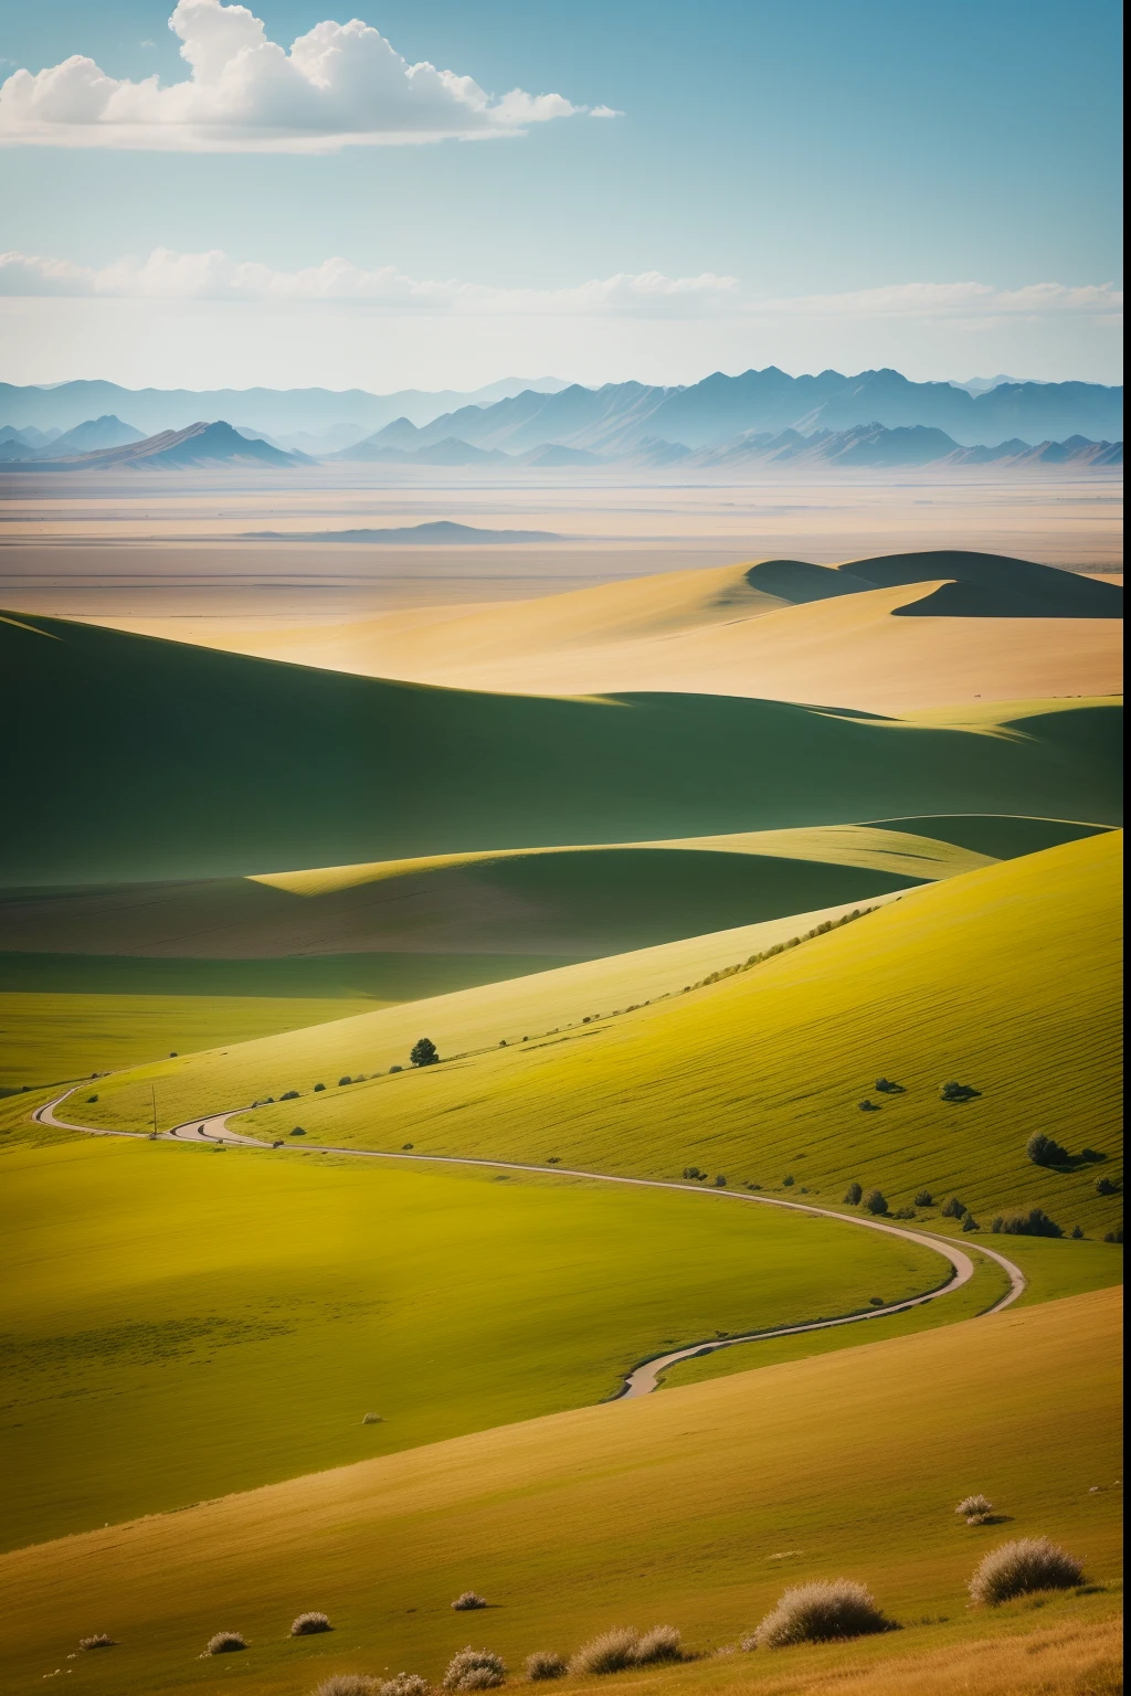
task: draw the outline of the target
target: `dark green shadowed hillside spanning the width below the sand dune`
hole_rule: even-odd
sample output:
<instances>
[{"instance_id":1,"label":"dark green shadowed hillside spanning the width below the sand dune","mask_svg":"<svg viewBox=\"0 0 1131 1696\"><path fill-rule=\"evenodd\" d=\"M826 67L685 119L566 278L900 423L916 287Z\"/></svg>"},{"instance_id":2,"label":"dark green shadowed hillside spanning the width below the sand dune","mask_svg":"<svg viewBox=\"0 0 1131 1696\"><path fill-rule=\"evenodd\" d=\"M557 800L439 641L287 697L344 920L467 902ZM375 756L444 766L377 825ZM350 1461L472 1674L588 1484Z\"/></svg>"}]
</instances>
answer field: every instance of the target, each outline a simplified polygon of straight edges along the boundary
<instances>
[{"instance_id":1,"label":"dark green shadowed hillside spanning the width below the sand dune","mask_svg":"<svg viewBox=\"0 0 1131 1696\"><path fill-rule=\"evenodd\" d=\"M8 887L895 812L1117 816L1117 714L1095 706L995 733L722 695L515 699L47 617L0 619L0 711L25 726Z\"/></svg>"}]
</instances>

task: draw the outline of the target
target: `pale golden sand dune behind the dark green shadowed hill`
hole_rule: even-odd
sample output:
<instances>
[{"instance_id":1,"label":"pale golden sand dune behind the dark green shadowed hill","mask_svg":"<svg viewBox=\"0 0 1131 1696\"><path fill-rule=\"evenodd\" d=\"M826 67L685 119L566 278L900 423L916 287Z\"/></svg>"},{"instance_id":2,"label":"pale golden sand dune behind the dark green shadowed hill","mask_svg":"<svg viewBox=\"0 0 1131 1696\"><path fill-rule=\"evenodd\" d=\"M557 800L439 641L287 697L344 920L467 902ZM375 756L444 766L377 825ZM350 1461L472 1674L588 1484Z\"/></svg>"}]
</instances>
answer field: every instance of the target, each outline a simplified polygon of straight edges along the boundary
<instances>
[{"instance_id":1,"label":"pale golden sand dune behind the dark green shadowed hill","mask_svg":"<svg viewBox=\"0 0 1131 1696\"><path fill-rule=\"evenodd\" d=\"M861 573L866 566L860 563ZM999 594L955 585L950 575L873 589L851 565L763 561L353 622L265 629L178 619L176 638L366 677L512 694L677 690L907 712L1117 692L1119 619L1075 609L1043 616L1011 578ZM163 621L107 622L170 634Z\"/></svg>"}]
</instances>

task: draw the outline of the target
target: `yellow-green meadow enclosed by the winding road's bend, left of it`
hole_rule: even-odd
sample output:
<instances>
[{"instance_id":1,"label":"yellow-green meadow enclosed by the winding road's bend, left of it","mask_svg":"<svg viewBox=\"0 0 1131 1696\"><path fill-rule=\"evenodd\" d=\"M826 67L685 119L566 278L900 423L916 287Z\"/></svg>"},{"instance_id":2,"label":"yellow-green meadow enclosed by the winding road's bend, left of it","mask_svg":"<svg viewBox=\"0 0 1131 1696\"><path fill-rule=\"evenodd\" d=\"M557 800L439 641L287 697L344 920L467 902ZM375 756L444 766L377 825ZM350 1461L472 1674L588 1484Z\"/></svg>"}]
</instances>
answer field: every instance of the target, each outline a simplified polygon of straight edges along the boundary
<instances>
[{"instance_id":1,"label":"yellow-green meadow enclosed by the winding road's bend, left of it","mask_svg":"<svg viewBox=\"0 0 1131 1696\"><path fill-rule=\"evenodd\" d=\"M665 1345L946 1274L839 1223L541 1175L100 1138L0 1165L8 1547L595 1403Z\"/></svg>"}]
</instances>

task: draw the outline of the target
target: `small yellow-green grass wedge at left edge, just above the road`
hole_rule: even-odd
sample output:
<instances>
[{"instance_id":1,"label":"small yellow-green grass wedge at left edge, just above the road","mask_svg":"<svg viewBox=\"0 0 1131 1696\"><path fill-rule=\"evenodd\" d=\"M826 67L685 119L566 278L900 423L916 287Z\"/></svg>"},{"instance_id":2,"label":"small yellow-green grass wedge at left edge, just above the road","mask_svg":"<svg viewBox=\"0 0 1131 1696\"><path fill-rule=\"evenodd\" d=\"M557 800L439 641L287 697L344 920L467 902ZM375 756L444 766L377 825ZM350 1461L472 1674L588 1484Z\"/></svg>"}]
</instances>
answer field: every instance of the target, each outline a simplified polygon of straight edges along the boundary
<instances>
[{"instance_id":1,"label":"small yellow-green grass wedge at left edge, just above the road","mask_svg":"<svg viewBox=\"0 0 1131 1696\"><path fill-rule=\"evenodd\" d=\"M0 994L0 1089L114 1072L168 1053L346 1019L371 1002L283 996Z\"/></svg>"}]
</instances>

